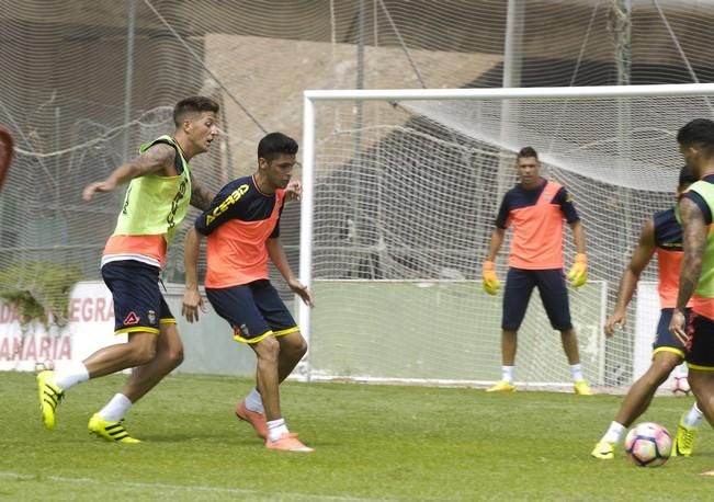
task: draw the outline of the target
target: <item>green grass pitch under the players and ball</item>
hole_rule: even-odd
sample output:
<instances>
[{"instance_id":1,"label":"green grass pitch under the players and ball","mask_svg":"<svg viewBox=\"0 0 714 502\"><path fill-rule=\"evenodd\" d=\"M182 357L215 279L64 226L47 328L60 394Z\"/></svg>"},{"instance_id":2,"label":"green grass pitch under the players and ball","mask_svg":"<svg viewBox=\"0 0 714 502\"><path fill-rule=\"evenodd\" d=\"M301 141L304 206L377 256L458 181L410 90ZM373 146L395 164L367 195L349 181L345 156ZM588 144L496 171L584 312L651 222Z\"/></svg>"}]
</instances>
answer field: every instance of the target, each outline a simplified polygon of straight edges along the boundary
<instances>
[{"instance_id":1,"label":"green grass pitch under the players and ball","mask_svg":"<svg viewBox=\"0 0 714 502\"><path fill-rule=\"evenodd\" d=\"M70 389L39 419L34 375L0 373L0 500L712 500L714 434L660 468L590 457L620 397L492 395L466 388L281 386L292 431L316 450L271 452L233 409L248 379L168 377L126 418L139 445L90 437L87 422L126 376ZM692 398L656 398L638 420L676 432Z\"/></svg>"}]
</instances>

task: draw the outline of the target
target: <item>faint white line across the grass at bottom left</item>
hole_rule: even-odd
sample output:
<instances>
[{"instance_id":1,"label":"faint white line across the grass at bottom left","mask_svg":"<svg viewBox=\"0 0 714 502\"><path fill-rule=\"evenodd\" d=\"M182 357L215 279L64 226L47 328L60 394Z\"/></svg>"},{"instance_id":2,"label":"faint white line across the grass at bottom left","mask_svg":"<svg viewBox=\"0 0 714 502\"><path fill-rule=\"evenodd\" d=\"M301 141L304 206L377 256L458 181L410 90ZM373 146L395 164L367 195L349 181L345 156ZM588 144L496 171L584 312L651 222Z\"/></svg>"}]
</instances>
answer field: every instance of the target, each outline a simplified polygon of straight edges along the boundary
<instances>
[{"instance_id":1,"label":"faint white line across the grass at bottom left","mask_svg":"<svg viewBox=\"0 0 714 502\"><path fill-rule=\"evenodd\" d=\"M340 495L311 495L307 493L295 493L295 492L264 492L259 490L250 490L243 488L223 488L223 487L205 487L200 484L171 484L171 483L150 483L150 482L136 482L136 481L104 481L92 478L70 478L66 476L33 476L33 475L23 475L20 472L2 472L0 471L0 478L10 478L10 479L20 479L23 481L30 481L33 479L42 480L48 479L54 482L59 483L87 483L87 484L114 484L117 487L134 487L134 488L156 488L160 490L175 490L182 492L204 492L204 493L233 493L239 495L257 495L270 498L285 498L288 500L314 500L314 501L339 501L339 502L383 502L388 499L362 499L359 497L340 497Z\"/></svg>"}]
</instances>

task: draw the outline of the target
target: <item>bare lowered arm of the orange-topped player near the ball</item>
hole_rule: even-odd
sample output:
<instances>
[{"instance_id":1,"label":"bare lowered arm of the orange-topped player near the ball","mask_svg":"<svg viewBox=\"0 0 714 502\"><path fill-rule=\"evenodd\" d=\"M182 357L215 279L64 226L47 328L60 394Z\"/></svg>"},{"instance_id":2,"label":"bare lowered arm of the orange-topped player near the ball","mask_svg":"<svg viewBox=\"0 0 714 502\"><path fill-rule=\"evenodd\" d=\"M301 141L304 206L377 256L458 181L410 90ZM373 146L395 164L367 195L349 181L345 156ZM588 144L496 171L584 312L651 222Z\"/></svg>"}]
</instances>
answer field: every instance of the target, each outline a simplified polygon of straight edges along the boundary
<instances>
[{"instance_id":1,"label":"bare lowered arm of the orange-topped player near the ball","mask_svg":"<svg viewBox=\"0 0 714 502\"><path fill-rule=\"evenodd\" d=\"M617 289L617 299L612 315L608 318L604 326L604 332L612 336L615 328L622 328L627 322L627 305L637 287L639 275L645 270L653 255L655 254L655 223L649 220L639 232L639 241L632 253L630 264L620 278L620 288Z\"/></svg>"}]
</instances>

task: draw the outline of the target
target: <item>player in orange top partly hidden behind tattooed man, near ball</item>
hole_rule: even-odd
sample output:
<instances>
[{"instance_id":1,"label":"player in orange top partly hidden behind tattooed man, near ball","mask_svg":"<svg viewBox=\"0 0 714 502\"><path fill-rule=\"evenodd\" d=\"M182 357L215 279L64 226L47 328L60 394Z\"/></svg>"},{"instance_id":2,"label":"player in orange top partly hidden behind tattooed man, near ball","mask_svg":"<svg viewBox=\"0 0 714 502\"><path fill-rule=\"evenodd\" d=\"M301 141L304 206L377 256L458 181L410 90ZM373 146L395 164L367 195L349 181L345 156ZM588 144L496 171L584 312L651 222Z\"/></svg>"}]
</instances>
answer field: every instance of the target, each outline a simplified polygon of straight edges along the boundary
<instances>
[{"instance_id":1,"label":"player in orange top partly hidden behind tattooed man, near ball","mask_svg":"<svg viewBox=\"0 0 714 502\"><path fill-rule=\"evenodd\" d=\"M677 196L696 181L691 169L684 167L679 173ZM645 224L639 233L639 242L630 260L630 265L622 274L617 300L612 316L605 322L605 334L612 336L616 327L625 324L627 305L637 286L639 274L645 270L651 258L657 253L659 283L659 305L661 313L657 324L657 335L654 343L653 360L649 369L633 384L625 396L615 420L592 450L592 456L609 460L614 457L614 447L622 441L627 427L637 420L649 407L657 388L667 380L669 374L684 361L685 347L669 333L669 322L677 304L679 287L679 269L682 263L682 227L679 223L679 212L671 207L655 213ZM689 311L689 308L688 308ZM694 445L696 427L702 422L702 412L694 403L684 413L677 427L677 436L672 455L690 456Z\"/></svg>"}]
</instances>

